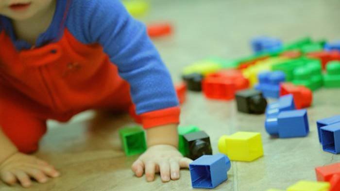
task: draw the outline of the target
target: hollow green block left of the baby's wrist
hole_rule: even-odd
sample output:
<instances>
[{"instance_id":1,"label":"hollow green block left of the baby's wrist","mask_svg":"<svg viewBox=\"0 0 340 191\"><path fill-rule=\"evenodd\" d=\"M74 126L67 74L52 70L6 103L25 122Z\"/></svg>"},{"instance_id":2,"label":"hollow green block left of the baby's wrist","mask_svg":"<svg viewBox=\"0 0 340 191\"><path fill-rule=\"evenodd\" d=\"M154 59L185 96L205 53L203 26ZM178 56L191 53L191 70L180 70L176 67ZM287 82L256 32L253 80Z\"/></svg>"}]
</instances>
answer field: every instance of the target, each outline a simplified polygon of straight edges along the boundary
<instances>
[{"instance_id":1,"label":"hollow green block left of the baby's wrist","mask_svg":"<svg viewBox=\"0 0 340 191\"><path fill-rule=\"evenodd\" d=\"M145 132L142 127L119 129L119 137L126 156L141 154L147 149Z\"/></svg>"}]
</instances>

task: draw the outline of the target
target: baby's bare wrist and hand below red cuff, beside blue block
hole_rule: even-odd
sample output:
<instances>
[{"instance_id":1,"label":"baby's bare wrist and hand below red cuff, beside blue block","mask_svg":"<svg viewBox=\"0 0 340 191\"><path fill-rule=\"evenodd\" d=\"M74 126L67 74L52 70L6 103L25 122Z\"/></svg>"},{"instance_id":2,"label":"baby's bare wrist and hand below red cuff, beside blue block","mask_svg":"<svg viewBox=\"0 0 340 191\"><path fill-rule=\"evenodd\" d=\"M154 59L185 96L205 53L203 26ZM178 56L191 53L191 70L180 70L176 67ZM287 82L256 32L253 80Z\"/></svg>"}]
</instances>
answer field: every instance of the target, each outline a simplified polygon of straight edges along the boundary
<instances>
[{"instance_id":1,"label":"baby's bare wrist and hand below red cuff, beside blue block","mask_svg":"<svg viewBox=\"0 0 340 191\"><path fill-rule=\"evenodd\" d=\"M132 165L136 176L144 174L147 181L153 181L154 174L160 172L163 181L179 178L179 169L188 168L191 159L184 158L178 152L177 125L153 127L146 130L148 150ZM160 136L167 135L167 136Z\"/></svg>"}]
</instances>

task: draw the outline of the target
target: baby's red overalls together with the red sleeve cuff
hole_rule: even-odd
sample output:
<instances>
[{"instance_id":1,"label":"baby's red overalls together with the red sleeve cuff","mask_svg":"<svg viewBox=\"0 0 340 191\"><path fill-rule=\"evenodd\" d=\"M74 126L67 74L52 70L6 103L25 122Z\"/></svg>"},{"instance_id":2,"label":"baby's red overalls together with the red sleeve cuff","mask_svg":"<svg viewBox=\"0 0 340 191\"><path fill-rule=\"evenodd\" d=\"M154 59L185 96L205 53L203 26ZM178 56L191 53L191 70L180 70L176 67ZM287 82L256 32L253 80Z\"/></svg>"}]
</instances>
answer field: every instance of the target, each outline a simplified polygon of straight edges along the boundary
<instances>
[{"instance_id":1,"label":"baby's red overalls together with the red sleeve cuff","mask_svg":"<svg viewBox=\"0 0 340 191\"><path fill-rule=\"evenodd\" d=\"M0 33L0 126L21 152L38 148L47 119L65 122L87 109L131 105L129 84L99 44L84 45L65 29L56 43L18 52ZM178 123L179 108L143 115L146 128Z\"/></svg>"}]
</instances>

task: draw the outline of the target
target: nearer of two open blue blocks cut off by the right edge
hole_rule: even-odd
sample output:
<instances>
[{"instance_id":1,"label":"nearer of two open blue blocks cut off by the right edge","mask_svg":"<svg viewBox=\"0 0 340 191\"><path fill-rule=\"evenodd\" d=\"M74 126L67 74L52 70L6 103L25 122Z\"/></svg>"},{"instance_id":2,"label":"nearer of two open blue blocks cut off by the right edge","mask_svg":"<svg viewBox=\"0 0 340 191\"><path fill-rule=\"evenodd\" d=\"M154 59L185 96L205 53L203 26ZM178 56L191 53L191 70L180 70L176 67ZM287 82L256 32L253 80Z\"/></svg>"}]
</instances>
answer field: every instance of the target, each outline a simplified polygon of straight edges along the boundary
<instances>
[{"instance_id":1,"label":"nearer of two open blue blocks cut off by the right edge","mask_svg":"<svg viewBox=\"0 0 340 191\"><path fill-rule=\"evenodd\" d=\"M321 127L323 150L333 154L340 153L340 123Z\"/></svg>"}]
</instances>

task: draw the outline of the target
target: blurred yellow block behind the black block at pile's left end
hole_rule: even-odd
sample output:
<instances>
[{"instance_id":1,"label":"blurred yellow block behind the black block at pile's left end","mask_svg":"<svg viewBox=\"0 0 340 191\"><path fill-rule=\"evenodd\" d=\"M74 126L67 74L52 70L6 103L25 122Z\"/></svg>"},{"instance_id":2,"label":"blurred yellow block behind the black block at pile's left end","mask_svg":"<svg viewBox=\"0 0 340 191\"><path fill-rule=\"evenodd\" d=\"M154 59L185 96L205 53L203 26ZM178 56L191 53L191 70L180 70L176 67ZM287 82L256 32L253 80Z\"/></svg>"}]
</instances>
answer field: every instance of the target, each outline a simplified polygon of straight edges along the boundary
<instances>
[{"instance_id":1,"label":"blurred yellow block behind the black block at pile's left end","mask_svg":"<svg viewBox=\"0 0 340 191\"><path fill-rule=\"evenodd\" d=\"M214 73L220 70L221 68L222 68L221 64L209 61L201 61L185 67L183 70L183 75L199 73L205 76Z\"/></svg>"}]
</instances>

